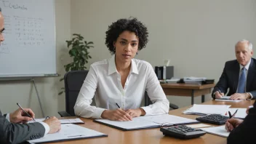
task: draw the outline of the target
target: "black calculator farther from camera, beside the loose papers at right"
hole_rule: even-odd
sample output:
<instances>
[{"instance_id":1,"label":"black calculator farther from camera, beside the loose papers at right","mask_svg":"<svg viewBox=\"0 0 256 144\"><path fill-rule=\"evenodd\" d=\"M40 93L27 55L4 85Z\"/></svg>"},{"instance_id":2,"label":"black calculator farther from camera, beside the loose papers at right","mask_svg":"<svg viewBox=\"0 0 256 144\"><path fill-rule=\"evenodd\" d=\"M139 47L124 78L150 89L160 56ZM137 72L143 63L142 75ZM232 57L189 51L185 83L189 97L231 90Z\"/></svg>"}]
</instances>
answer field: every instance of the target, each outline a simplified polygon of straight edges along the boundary
<instances>
[{"instance_id":1,"label":"black calculator farther from camera, beside the loose papers at right","mask_svg":"<svg viewBox=\"0 0 256 144\"><path fill-rule=\"evenodd\" d=\"M208 116L201 116L196 118L197 121L217 125L225 124L225 121L227 121L228 119L228 116L222 116L220 114L210 114Z\"/></svg>"}]
</instances>

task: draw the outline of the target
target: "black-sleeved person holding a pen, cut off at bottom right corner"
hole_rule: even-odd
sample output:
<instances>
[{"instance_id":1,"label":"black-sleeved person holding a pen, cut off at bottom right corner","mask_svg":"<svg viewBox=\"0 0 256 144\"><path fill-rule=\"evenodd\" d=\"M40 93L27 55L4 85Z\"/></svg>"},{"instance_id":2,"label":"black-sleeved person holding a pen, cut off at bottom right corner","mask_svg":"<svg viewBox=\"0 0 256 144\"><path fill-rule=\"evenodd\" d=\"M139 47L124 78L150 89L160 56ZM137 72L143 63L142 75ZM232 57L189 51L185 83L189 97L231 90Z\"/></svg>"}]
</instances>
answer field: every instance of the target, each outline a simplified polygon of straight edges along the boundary
<instances>
[{"instance_id":1,"label":"black-sleeved person holding a pen, cut off at bottom right corner","mask_svg":"<svg viewBox=\"0 0 256 144\"><path fill-rule=\"evenodd\" d=\"M225 129L231 132L227 142L230 143L255 143L256 129L256 103L253 108L249 108L249 114L244 121L241 119L228 119Z\"/></svg>"}]
</instances>

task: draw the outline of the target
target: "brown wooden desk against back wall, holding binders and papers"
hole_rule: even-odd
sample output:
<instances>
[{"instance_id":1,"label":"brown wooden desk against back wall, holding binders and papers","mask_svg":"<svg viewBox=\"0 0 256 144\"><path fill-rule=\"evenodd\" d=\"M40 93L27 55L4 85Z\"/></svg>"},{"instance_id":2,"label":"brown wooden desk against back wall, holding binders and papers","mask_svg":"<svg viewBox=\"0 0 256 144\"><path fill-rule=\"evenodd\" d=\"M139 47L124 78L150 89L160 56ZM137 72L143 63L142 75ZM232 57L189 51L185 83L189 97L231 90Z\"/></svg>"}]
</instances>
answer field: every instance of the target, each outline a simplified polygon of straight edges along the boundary
<instances>
[{"instance_id":1,"label":"brown wooden desk against back wall, holding binders and papers","mask_svg":"<svg viewBox=\"0 0 256 144\"><path fill-rule=\"evenodd\" d=\"M165 95L177 95L191 97L191 105L193 98L201 96L201 103L204 103L204 95L212 92L215 84L161 84Z\"/></svg>"}]
</instances>

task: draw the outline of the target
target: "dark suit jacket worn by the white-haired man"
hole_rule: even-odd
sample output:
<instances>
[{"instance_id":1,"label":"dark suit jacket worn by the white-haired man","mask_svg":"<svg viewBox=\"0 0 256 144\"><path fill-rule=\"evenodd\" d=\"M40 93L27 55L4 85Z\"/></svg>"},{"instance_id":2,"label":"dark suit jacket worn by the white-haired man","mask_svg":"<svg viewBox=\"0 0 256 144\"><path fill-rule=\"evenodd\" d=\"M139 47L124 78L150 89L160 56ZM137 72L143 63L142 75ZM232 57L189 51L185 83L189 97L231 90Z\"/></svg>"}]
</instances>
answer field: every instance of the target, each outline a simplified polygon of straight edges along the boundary
<instances>
[{"instance_id":1,"label":"dark suit jacket worn by the white-haired man","mask_svg":"<svg viewBox=\"0 0 256 144\"><path fill-rule=\"evenodd\" d=\"M213 95L217 90L226 93L229 89L228 96L236 93L237 86L239 84L239 72L240 67L237 60L231 60L225 63L225 68L220 80L217 82L215 88L212 91L212 98L215 98ZM252 58L251 64L249 65L247 73L247 84L246 92L250 92L253 98L256 98L256 60Z\"/></svg>"}]
</instances>

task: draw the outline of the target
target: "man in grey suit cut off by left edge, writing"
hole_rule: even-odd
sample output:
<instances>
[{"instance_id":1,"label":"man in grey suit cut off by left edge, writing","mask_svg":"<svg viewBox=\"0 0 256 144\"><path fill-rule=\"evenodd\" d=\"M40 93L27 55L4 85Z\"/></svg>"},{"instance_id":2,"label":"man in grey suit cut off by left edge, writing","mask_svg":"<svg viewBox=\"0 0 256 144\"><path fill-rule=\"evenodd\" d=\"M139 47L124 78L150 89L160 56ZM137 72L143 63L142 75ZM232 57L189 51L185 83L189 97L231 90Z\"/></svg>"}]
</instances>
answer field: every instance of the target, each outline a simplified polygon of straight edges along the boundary
<instances>
[{"instance_id":1,"label":"man in grey suit cut off by left edge, writing","mask_svg":"<svg viewBox=\"0 0 256 144\"><path fill-rule=\"evenodd\" d=\"M0 45L4 41L4 17L0 7ZM24 111L34 117L33 111L24 108ZM35 122L31 124L21 124L30 121L32 118L19 108L14 113L8 113L2 116L0 111L0 143L22 143L25 140L33 140L44 137L47 133L55 133L60 130L60 121L51 117L43 122Z\"/></svg>"}]
</instances>

